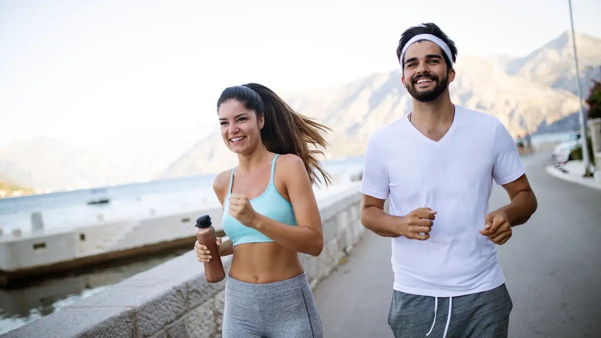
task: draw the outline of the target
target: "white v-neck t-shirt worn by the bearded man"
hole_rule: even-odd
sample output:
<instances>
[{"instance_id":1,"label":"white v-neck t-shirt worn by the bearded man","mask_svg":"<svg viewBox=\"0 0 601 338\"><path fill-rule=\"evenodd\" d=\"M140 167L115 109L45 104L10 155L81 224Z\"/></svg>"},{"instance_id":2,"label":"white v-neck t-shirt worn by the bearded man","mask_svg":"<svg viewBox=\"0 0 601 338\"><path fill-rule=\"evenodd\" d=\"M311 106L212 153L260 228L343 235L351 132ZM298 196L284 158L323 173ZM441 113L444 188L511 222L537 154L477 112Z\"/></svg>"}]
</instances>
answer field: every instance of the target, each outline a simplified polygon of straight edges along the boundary
<instances>
[{"instance_id":1,"label":"white v-neck t-shirt worn by the bearded man","mask_svg":"<svg viewBox=\"0 0 601 338\"><path fill-rule=\"evenodd\" d=\"M451 128L438 142L407 117L374 132L364 156L361 192L404 216L418 207L438 212L426 241L392 238L394 289L457 297L501 286L496 244L478 230L489 214L493 180L525 173L517 147L492 115L455 105Z\"/></svg>"}]
</instances>

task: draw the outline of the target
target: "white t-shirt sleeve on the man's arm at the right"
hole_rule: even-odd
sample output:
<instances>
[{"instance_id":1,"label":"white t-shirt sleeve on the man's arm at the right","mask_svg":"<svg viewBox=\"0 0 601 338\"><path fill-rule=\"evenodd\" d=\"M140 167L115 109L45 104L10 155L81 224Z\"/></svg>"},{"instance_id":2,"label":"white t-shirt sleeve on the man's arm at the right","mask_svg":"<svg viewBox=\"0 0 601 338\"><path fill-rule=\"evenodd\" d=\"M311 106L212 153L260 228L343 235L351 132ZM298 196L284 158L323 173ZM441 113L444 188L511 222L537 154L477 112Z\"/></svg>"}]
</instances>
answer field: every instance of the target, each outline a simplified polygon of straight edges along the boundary
<instances>
[{"instance_id":1,"label":"white t-shirt sleeve on the man's arm at the right","mask_svg":"<svg viewBox=\"0 0 601 338\"><path fill-rule=\"evenodd\" d=\"M496 121L495 144L493 146L495 162L492 176L498 185L504 185L519 179L526 169L517 152L517 146L507 128Z\"/></svg>"}]
</instances>

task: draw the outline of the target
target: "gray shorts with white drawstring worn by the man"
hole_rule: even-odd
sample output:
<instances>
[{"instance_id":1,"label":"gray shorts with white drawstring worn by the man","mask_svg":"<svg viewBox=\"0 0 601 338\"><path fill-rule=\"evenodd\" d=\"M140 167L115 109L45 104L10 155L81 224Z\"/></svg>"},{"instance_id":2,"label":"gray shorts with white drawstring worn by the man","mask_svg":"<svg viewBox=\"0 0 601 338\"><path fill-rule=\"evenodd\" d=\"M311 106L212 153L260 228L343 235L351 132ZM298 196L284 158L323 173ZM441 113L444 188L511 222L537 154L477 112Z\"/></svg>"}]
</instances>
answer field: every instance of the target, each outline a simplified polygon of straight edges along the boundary
<instances>
[{"instance_id":1,"label":"gray shorts with white drawstring worn by the man","mask_svg":"<svg viewBox=\"0 0 601 338\"><path fill-rule=\"evenodd\" d=\"M395 338L507 338L511 309L505 284L452 298L394 290L388 325Z\"/></svg>"}]
</instances>

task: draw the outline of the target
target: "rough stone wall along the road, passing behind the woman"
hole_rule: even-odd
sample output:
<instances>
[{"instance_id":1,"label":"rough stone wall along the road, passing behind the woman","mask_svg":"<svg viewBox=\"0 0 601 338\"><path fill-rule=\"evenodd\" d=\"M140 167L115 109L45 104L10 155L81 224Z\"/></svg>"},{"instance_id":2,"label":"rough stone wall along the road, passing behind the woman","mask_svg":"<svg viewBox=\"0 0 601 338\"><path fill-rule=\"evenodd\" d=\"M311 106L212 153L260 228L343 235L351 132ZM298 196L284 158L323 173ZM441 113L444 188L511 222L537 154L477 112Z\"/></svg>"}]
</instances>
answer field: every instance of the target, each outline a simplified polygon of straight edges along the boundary
<instances>
[{"instance_id":1,"label":"rough stone wall along the road, passing behind the woman","mask_svg":"<svg viewBox=\"0 0 601 338\"><path fill-rule=\"evenodd\" d=\"M359 240L360 203L359 183L319 201L323 251L318 257L301 254L311 287ZM231 256L222 259L228 269ZM224 287L225 280L207 283L191 250L0 337L221 337Z\"/></svg>"}]
</instances>

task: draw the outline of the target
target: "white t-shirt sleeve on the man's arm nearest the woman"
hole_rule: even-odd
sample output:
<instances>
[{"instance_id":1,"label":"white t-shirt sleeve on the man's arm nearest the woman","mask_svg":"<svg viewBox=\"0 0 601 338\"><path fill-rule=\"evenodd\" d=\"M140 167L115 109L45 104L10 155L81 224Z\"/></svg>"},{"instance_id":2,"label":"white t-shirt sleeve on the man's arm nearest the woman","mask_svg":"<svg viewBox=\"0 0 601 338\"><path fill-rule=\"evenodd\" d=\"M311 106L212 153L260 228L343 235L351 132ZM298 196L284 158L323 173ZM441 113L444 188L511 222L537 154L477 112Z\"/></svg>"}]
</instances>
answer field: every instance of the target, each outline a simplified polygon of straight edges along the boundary
<instances>
[{"instance_id":1,"label":"white t-shirt sleeve on the man's arm nearest the woman","mask_svg":"<svg viewBox=\"0 0 601 338\"><path fill-rule=\"evenodd\" d=\"M388 174L386 174L380 150L372 135L367 143L363 159L361 193L385 200L389 193Z\"/></svg>"}]
</instances>

